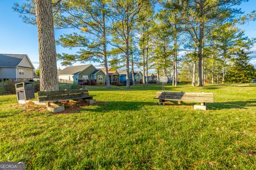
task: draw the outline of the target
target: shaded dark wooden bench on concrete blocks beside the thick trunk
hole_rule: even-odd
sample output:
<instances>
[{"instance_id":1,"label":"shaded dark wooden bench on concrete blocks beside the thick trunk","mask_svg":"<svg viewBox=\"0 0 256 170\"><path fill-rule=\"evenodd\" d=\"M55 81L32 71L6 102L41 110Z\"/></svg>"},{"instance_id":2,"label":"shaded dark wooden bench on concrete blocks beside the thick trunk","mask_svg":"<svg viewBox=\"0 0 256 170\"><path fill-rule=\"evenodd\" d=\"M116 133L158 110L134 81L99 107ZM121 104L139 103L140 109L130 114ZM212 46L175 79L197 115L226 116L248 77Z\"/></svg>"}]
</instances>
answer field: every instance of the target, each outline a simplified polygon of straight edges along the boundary
<instances>
[{"instance_id":1,"label":"shaded dark wooden bench on concrete blocks beside the thick trunk","mask_svg":"<svg viewBox=\"0 0 256 170\"><path fill-rule=\"evenodd\" d=\"M60 90L60 91L38 91L39 103L46 103L46 107L52 112L61 112L65 108L60 103L61 101L69 100L89 100L89 104L95 103L93 96L89 95L87 89L79 90ZM50 105L56 106L55 108Z\"/></svg>"}]
</instances>

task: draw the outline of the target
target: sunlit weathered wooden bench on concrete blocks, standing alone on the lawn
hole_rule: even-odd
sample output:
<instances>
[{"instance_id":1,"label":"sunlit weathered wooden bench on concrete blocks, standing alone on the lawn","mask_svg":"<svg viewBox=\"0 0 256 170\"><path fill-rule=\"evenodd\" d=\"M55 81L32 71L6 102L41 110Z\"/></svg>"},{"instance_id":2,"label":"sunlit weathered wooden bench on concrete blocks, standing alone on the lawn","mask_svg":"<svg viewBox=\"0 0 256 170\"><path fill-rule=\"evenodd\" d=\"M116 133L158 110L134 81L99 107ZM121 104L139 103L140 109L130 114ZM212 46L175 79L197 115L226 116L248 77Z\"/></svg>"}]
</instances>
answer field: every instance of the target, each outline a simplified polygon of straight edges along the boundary
<instances>
[{"instance_id":1,"label":"sunlit weathered wooden bench on concrete blocks, standing alone on the lawn","mask_svg":"<svg viewBox=\"0 0 256 170\"><path fill-rule=\"evenodd\" d=\"M206 111L205 103L214 103L213 94L205 92L156 92L156 98L159 99L159 105L164 105L165 101L178 101L181 105L182 101L190 101L195 103L201 103L201 105L194 105L194 109L202 109Z\"/></svg>"}]
</instances>

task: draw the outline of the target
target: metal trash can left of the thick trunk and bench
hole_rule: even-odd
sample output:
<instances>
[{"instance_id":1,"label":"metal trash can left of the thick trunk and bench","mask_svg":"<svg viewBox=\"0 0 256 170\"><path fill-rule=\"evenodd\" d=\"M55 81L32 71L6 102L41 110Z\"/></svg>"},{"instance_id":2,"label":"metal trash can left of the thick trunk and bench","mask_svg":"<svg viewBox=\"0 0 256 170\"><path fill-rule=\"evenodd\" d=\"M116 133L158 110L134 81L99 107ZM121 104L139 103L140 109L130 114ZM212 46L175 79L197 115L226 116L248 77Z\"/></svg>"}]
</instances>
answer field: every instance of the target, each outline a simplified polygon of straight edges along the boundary
<instances>
[{"instance_id":1,"label":"metal trash can left of the thick trunk and bench","mask_svg":"<svg viewBox=\"0 0 256 170\"><path fill-rule=\"evenodd\" d=\"M28 100L35 98L34 85L31 82L22 82L15 84L17 99Z\"/></svg>"}]
</instances>

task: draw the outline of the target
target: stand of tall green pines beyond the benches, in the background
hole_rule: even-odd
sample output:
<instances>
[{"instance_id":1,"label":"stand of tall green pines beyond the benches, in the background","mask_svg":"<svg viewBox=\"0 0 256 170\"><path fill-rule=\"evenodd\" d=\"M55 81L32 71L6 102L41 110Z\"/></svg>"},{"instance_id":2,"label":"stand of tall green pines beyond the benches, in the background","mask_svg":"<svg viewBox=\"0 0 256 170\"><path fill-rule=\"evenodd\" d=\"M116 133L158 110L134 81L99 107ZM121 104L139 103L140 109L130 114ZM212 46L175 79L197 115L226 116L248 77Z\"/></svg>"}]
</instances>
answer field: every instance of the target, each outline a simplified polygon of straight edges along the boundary
<instances>
[{"instance_id":1,"label":"stand of tall green pines beyond the benches, in the background","mask_svg":"<svg viewBox=\"0 0 256 170\"><path fill-rule=\"evenodd\" d=\"M35 1L15 3L24 22L37 24ZM243 15L236 8L246 0L53 0L55 29L73 33L61 35L57 44L77 50L58 54L63 65L100 62L125 67L126 80L134 67L143 77L154 69L159 76L204 86L204 83L250 82L256 72L250 61L255 39L245 36L237 24L255 21L255 12ZM155 7L158 10L155 11ZM107 48L107 47L111 47ZM110 50L108 50L110 49ZM180 55L180 52L184 52ZM133 75L133 74L132 74ZM134 76L132 77L135 84ZM147 86L148 79L143 79ZM126 82L130 88L130 82Z\"/></svg>"}]
</instances>

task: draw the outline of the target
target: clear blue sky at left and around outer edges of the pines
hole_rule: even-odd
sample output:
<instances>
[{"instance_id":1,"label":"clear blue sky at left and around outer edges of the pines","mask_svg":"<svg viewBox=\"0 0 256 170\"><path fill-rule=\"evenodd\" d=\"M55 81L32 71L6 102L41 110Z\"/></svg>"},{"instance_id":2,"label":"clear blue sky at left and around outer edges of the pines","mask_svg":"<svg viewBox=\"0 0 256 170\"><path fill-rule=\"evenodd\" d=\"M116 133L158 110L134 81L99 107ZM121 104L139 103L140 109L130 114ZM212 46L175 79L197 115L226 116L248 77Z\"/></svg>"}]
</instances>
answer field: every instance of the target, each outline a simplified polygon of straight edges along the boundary
<instances>
[{"instance_id":1,"label":"clear blue sky at left and around outer edges of the pines","mask_svg":"<svg viewBox=\"0 0 256 170\"><path fill-rule=\"evenodd\" d=\"M35 67L38 67L38 42L37 29L34 25L25 24L19 18L19 14L14 12L12 6L15 2L22 4L25 0L0 0L0 53L2 54L28 54ZM256 10L256 1L250 0L239 6L245 13ZM256 22L247 25L239 25L245 30L248 37L256 37ZM55 37L58 38L65 30L55 30ZM252 49L251 63L256 65L256 47ZM70 50L57 46L57 53L67 53ZM71 52L75 53L75 51ZM76 63L79 64L79 63ZM96 64L97 65L97 64ZM58 67L63 68L60 63Z\"/></svg>"}]
</instances>

